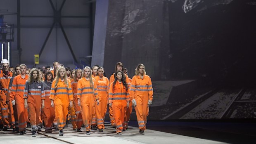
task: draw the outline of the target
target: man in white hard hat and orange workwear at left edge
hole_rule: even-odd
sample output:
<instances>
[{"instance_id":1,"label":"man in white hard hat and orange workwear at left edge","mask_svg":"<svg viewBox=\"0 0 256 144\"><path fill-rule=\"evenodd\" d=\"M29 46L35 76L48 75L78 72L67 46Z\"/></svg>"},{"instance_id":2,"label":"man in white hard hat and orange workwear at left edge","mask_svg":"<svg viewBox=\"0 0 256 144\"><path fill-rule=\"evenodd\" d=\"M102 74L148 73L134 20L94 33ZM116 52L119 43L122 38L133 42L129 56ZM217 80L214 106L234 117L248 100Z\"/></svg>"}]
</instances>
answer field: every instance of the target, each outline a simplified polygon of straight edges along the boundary
<instances>
[{"instance_id":1,"label":"man in white hard hat and orange workwear at left edge","mask_svg":"<svg viewBox=\"0 0 256 144\"><path fill-rule=\"evenodd\" d=\"M9 61L2 59L2 70L0 73L0 109L2 113L3 130L7 130L9 125L9 111L8 104L6 103L6 94L8 92L9 82L12 78L12 72L9 72Z\"/></svg>"}]
</instances>

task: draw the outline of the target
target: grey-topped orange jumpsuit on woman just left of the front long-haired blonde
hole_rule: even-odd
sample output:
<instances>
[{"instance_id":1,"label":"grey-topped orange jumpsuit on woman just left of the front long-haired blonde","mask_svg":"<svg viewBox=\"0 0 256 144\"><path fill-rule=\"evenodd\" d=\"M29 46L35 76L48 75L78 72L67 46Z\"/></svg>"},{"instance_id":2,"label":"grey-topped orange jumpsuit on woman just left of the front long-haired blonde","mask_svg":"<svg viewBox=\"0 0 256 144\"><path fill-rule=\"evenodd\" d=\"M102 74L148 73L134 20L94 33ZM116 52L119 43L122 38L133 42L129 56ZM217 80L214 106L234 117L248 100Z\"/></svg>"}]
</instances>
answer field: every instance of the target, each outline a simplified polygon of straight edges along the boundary
<instances>
[{"instance_id":1,"label":"grey-topped orange jumpsuit on woman just left of the front long-haired blonde","mask_svg":"<svg viewBox=\"0 0 256 144\"><path fill-rule=\"evenodd\" d=\"M52 87L52 82L47 82L47 80L43 83L45 90L45 107L43 108L43 120L45 122L45 132L52 132L52 123L55 118L54 108L51 106L50 100L50 91Z\"/></svg>"}]
</instances>

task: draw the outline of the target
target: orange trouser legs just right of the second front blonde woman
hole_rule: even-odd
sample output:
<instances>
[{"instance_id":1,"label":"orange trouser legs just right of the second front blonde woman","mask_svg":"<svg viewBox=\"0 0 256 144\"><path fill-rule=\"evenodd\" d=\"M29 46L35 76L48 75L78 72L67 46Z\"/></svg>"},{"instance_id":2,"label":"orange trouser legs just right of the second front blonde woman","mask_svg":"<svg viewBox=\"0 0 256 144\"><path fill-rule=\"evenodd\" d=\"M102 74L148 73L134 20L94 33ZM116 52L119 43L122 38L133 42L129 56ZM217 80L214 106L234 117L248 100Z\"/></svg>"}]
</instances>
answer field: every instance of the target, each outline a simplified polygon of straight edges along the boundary
<instances>
[{"instance_id":1,"label":"orange trouser legs just right of the second front blonde woman","mask_svg":"<svg viewBox=\"0 0 256 144\"><path fill-rule=\"evenodd\" d=\"M97 127L99 129L105 128L104 127L104 117L102 117L102 113L105 113L106 103L104 104L100 101L99 105L96 105L96 118L97 118Z\"/></svg>"}]
</instances>

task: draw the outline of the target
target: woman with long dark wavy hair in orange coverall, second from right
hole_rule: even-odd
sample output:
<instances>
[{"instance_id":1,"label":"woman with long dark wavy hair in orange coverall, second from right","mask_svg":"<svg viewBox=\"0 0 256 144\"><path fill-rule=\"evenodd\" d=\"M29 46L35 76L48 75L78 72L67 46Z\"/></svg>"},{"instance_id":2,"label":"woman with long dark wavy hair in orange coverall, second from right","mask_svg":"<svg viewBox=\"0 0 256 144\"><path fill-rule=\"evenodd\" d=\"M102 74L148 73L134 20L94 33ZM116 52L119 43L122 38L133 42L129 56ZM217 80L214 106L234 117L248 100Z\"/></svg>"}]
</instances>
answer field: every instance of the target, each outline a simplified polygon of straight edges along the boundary
<instances>
[{"instance_id":1,"label":"woman with long dark wavy hair in orange coverall, second from right","mask_svg":"<svg viewBox=\"0 0 256 144\"><path fill-rule=\"evenodd\" d=\"M126 108L129 106L130 96L129 87L126 83L125 74L123 71L116 71L115 80L109 87L109 107L113 108L116 133L122 135L123 127L126 127L124 117Z\"/></svg>"}]
</instances>

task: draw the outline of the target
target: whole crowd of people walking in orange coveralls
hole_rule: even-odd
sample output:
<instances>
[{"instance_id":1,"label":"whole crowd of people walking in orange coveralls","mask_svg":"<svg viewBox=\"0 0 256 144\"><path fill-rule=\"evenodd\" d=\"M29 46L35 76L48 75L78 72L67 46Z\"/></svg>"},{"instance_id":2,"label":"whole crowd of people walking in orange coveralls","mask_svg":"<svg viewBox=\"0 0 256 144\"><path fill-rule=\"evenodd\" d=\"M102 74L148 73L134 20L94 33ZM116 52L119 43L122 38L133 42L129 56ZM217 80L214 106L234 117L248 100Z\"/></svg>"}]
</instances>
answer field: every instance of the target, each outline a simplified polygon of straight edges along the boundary
<instances>
[{"instance_id":1,"label":"whole crowd of people walking in orange coveralls","mask_svg":"<svg viewBox=\"0 0 256 144\"><path fill-rule=\"evenodd\" d=\"M70 119L73 130L82 132L84 126L90 135L91 129L103 132L109 108L111 127L122 135L134 107L139 132L145 134L153 89L143 64L137 66L132 79L121 62L109 79L98 65L71 70L54 61L52 70L50 66L30 69L25 64L14 68L2 59L1 66L0 129L10 127L24 135L31 127L32 137L36 137L44 123L45 133L59 130L62 136Z\"/></svg>"}]
</instances>

